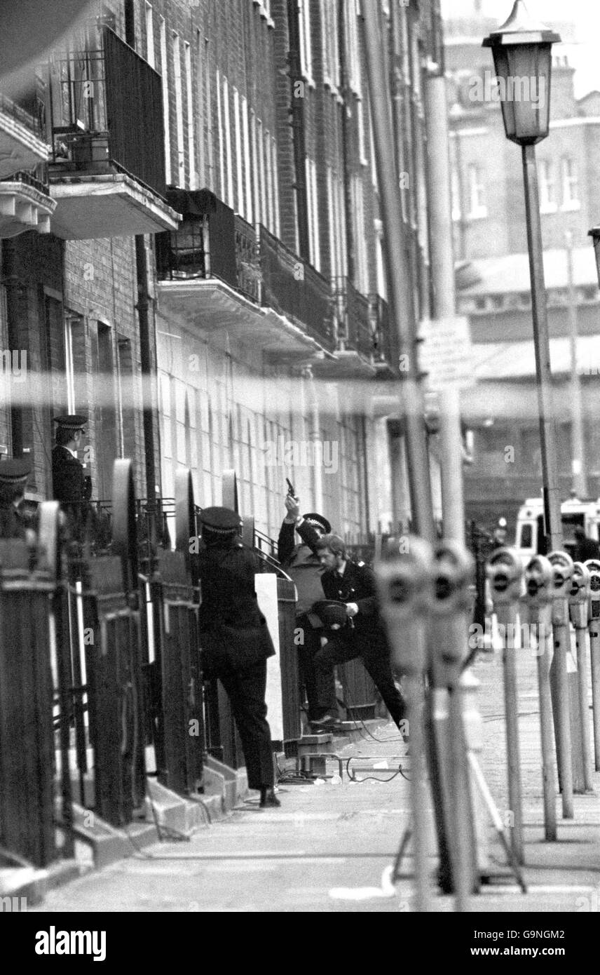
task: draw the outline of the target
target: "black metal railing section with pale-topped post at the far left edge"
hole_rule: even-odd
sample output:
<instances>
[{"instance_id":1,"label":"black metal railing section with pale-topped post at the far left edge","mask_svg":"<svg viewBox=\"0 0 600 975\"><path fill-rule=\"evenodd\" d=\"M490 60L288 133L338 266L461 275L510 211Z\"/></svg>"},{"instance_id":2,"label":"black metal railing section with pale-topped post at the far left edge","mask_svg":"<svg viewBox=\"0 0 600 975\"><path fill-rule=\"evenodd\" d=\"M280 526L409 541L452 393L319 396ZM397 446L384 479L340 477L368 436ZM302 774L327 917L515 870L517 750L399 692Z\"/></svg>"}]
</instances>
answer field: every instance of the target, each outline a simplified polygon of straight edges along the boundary
<instances>
[{"instance_id":1,"label":"black metal railing section with pale-topped post at the far left edge","mask_svg":"<svg viewBox=\"0 0 600 975\"><path fill-rule=\"evenodd\" d=\"M53 707L64 707L53 601L58 582L58 505L40 508L38 540L0 539L0 845L45 867L71 852L56 846ZM68 730L68 729L67 729ZM63 813L69 825L67 748ZM66 804L65 804L66 803Z\"/></svg>"}]
</instances>

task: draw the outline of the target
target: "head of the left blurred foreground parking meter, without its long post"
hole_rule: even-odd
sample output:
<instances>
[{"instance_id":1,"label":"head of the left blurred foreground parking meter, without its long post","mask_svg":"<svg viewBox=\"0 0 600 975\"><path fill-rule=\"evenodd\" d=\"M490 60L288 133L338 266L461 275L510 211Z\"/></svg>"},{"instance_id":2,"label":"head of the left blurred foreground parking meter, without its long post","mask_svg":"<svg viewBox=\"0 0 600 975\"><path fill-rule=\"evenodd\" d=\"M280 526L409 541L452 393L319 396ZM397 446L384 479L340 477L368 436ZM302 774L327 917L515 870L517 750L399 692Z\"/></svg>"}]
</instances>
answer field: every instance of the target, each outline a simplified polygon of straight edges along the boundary
<instances>
[{"instance_id":1,"label":"head of the left blurred foreground parking meter, without its long post","mask_svg":"<svg viewBox=\"0 0 600 975\"><path fill-rule=\"evenodd\" d=\"M404 673L425 669L423 620L430 604L431 545L414 535L404 539L402 552L389 547L386 558L375 564L381 614L385 621L392 659Z\"/></svg>"}]
</instances>

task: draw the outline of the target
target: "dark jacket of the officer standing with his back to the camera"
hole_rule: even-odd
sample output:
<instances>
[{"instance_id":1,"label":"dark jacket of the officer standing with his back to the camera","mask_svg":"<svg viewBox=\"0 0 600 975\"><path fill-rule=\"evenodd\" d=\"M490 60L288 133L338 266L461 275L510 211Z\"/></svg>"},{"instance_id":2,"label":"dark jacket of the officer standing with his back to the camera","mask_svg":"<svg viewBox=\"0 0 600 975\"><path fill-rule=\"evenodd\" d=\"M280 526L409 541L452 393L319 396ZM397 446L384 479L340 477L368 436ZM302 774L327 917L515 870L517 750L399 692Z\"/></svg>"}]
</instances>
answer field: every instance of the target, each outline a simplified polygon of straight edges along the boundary
<instances>
[{"instance_id":1,"label":"dark jacket of the officer standing with his back to the camera","mask_svg":"<svg viewBox=\"0 0 600 975\"><path fill-rule=\"evenodd\" d=\"M243 670L273 656L275 648L254 589L262 562L239 543L206 548L197 559L205 674Z\"/></svg>"}]
</instances>

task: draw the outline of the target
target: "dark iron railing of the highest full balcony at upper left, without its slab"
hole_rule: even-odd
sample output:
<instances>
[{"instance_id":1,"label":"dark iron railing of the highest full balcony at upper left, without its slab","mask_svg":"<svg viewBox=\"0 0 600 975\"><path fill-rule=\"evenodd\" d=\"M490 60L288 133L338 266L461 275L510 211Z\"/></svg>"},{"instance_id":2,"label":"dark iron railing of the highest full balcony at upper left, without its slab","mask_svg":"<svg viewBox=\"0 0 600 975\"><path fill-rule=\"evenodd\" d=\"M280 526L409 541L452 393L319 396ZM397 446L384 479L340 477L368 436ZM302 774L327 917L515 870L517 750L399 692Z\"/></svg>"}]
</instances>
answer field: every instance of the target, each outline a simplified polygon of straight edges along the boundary
<instances>
[{"instance_id":1,"label":"dark iron railing of the highest full balcony at upper left, without its slab","mask_svg":"<svg viewBox=\"0 0 600 975\"><path fill-rule=\"evenodd\" d=\"M51 176L126 173L166 195L160 75L106 25L50 62Z\"/></svg>"}]
</instances>

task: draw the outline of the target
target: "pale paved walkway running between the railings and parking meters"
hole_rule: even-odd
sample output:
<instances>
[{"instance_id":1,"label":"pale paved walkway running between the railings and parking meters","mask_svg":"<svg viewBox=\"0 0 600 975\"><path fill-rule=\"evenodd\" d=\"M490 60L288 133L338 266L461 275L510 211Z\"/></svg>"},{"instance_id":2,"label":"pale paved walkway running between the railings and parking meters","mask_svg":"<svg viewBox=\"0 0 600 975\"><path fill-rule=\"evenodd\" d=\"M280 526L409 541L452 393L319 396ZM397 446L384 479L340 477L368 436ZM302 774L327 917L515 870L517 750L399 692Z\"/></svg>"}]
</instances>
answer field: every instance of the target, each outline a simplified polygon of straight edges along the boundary
<instances>
[{"instance_id":1,"label":"pale paved walkway running between the railings and parking meters","mask_svg":"<svg viewBox=\"0 0 600 975\"><path fill-rule=\"evenodd\" d=\"M479 761L503 815L507 786L501 655L481 655L473 673L480 681L483 719ZM593 794L575 797L574 819L561 818L557 797L558 839L544 841L536 660L527 650L518 654L518 687L527 893L507 868L489 823L494 878L469 898L469 910L600 912L600 773L594 774ZM134 848L128 859L50 890L30 911L412 911L410 844L401 878L395 885L390 882L409 815L410 758L393 723L374 731L369 725L362 735L341 749L341 782L336 777L316 782L283 778L281 808L261 810L257 795L250 794L221 821L198 828L191 839ZM350 780L349 760L351 773L370 766L370 771L354 772L362 781ZM376 764L380 767L373 768ZM286 762L286 769L293 770L293 762ZM337 763L329 761L327 775L337 771ZM131 844L136 846L133 837ZM429 910L452 912L455 898L439 894L433 883L437 859L432 830L430 859Z\"/></svg>"}]
</instances>

